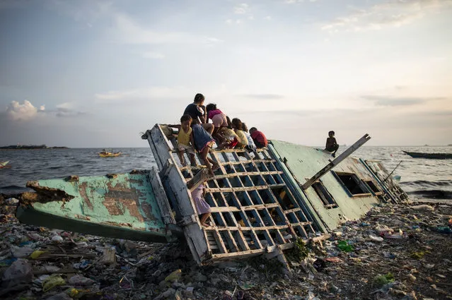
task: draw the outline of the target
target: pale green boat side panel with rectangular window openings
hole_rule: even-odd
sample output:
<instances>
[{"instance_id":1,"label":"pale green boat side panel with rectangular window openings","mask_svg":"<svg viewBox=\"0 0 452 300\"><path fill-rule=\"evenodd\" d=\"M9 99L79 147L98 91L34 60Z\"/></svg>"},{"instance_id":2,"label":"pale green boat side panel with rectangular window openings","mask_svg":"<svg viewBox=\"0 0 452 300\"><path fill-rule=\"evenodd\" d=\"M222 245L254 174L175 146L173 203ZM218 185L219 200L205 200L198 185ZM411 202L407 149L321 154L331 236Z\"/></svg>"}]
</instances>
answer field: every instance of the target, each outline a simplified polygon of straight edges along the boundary
<instances>
[{"instance_id":1,"label":"pale green boat side panel with rectangular window openings","mask_svg":"<svg viewBox=\"0 0 452 300\"><path fill-rule=\"evenodd\" d=\"M296 181L299 181L300 185L304 184L318 170L329 164L332 159L330 153L302 145L272 140L272 146L279 157L286 162L285 164L292 176L294 176ZM352 157L347 157L333 171L354 173L357 174L359 179L375 181L364 165ZM325 225L325 229L335 229L346 220L359 219L359 217L379 203L378 198L373 196L370 191L366 196L350 197L344 186L332 172L325 174L321 181L335 199L337 208L326 208L313 187L307 188L303 195L299 195L299 199L301 201L307 200L306 205L313 208ZM375 181L375 184L377 185L378 183Z\"/></svg>"}]
</instances>

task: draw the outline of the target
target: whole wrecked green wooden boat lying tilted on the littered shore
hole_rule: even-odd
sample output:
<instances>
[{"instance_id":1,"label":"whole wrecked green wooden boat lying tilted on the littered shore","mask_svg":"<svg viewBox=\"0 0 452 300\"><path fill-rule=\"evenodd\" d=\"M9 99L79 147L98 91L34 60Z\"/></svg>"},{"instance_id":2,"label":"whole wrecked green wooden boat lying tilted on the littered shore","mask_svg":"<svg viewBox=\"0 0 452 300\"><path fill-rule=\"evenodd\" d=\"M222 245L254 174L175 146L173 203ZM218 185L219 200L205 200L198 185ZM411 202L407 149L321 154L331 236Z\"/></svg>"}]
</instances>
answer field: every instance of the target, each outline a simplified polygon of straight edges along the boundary
<instances>
[{"instance_id":1,"label":"whole wrecked green wooden boat lying tilted on the littered shore","mask_svg":"<svg viewBox=\"0 0 452 300\"><path fill-rule=\"evenodd\" d=\"M127 174L31 181L21 222L73 232L141 241L184 239L200 265L266 254L284 260L297 239L319 241L381 202L407 199L383 164L272 140L255 156L212 150L214 176L182 167L175 132L156 124L148 140L157 167ZM188 157L185 157L188 161ZM198 164L199 157L197 157ZM206 181L210 227L202 227L191 193Z\"/></svg>"}]
</instances>

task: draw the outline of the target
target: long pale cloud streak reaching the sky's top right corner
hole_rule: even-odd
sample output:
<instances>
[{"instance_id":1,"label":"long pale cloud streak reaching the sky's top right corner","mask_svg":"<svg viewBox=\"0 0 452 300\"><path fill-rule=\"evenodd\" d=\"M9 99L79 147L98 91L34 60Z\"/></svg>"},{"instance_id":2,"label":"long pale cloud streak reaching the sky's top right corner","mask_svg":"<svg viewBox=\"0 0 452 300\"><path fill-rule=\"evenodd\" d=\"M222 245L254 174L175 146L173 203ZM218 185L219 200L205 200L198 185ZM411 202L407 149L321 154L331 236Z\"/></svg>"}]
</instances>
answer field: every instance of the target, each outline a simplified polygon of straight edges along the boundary
<instances>
[{"instance_id":1,"label":"long pale cloud streak reaching the sky's top right corner","mask_svg":"<svg viewBox=\"0 0 452 300\"><path fill-rule=\"evenodd\" d=\"M359 32L400 27L448 8L452 8L452 0L389 0L366 9L350 8L347 16L325 23L321 29Z\"/></svg>"}]
</instances>

